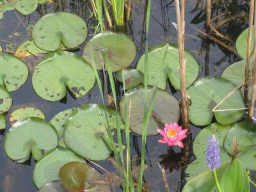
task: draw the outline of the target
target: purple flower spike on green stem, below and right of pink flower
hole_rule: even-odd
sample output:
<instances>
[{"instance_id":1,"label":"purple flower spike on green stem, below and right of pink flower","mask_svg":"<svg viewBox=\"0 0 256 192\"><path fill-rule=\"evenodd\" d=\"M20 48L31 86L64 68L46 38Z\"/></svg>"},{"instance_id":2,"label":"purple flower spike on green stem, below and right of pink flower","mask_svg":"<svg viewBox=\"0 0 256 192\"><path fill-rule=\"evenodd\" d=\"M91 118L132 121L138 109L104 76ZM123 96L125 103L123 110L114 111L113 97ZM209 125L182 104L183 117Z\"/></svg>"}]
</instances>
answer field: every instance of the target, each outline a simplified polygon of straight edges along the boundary
<instances>
[{"instance_id":1,"label":"purple flower spike on green stem, below and right of pink flower","mask_svg":"<svg viewBox=\"0 0 256 192\"><path fill-rule=\"evenodd\" d=\"M210 166L211 172L220 167L220 148L219 141L215 135L209 137L206 149L206 166Z\"/></svg>"}]
</instances>

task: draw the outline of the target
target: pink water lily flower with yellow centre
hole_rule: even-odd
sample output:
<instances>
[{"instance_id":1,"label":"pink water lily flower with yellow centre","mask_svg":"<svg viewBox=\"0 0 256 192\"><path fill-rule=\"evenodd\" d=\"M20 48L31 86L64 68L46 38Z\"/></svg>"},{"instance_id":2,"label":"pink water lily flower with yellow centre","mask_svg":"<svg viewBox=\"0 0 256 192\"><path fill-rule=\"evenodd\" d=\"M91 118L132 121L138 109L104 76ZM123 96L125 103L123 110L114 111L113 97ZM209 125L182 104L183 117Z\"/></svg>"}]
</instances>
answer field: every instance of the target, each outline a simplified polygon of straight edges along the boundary
<instances>
[{"instance_id":1,"label":"pink water lily flower with yellow centre","mask_svg":"<svg viewBox=\"0 0 256 192\"><path fill-rule=\"evenodd\" d=\"M188 129L182 130L182 127L175 122L174 124L165 124L164 130L157 129L157 131L164 137L161 138L159 143L168 143L169 146L175 145L184 147L181 140L187 137L186 132Z\"/></svg>"}]
</instances>

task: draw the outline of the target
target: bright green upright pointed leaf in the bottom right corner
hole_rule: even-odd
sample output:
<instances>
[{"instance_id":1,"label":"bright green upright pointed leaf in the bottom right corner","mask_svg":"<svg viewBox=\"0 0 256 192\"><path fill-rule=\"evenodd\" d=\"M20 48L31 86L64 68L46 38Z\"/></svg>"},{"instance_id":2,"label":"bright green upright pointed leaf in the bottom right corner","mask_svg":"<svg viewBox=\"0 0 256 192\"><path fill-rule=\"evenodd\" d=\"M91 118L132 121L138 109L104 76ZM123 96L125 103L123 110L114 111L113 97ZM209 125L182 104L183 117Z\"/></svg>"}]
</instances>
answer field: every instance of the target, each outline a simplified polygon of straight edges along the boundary
<instances>
[{"instance_id":1,"label":"bright green upright pointed leaf in the bottom right corner","mask_svg":"<svg viewBox=\"0 0 256 192\"><path fill-rule=\"evenodd\" d=\"M234 159L219 180L221 191L250 192L248 174L240 159Z\"/></svg>"}]
</instances>

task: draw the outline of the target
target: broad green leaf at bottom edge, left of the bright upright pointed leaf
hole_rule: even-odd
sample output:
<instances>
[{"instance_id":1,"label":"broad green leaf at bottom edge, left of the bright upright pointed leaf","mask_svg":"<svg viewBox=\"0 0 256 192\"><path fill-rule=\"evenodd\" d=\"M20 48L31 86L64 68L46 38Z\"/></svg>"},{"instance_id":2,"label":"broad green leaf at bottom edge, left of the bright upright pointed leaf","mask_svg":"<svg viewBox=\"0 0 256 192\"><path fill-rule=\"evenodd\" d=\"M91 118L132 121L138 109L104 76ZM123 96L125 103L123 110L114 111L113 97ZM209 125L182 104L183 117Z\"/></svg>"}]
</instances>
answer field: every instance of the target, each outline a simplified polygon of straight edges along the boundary
<instances>
[{"instance_id":1,"label":"broad green leaf at bottom edge, left of the bright upright pointed leaf","mask_svg":"<svg viewBox=\"0 0 256 192\"><path fill-rule=\"evenodd\" d=\"M224 164L220 166L220 168L216 169L218 179L221 179L221 175L223 175L228 166L229 164ZM182 189L182 192L210 192L213 191L215 187L216 184L212 172L208 170L189 180Z\"/></svg>"}]
</instances>

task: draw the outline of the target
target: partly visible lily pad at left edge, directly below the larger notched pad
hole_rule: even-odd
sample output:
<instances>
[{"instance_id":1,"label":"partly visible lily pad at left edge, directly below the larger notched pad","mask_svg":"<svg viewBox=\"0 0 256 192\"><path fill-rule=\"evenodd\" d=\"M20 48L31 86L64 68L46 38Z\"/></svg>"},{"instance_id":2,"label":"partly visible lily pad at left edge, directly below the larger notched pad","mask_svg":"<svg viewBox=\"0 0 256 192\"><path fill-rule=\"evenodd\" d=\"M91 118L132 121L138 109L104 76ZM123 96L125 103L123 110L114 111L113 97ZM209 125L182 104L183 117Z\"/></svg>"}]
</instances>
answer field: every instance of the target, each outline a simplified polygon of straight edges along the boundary
<instances>
[{"instance_id":1,"label":"partly visible lily pad at left edge, directly below the larger notched pad","mask_svg":"<svg viewBox=\"0 0 256 192\"><path fill-rule=\"evenodd\" d=\"M0 114L9 111L12 106L12 97L8 90L0 84Z\"/></svg>"}]
</instances>

